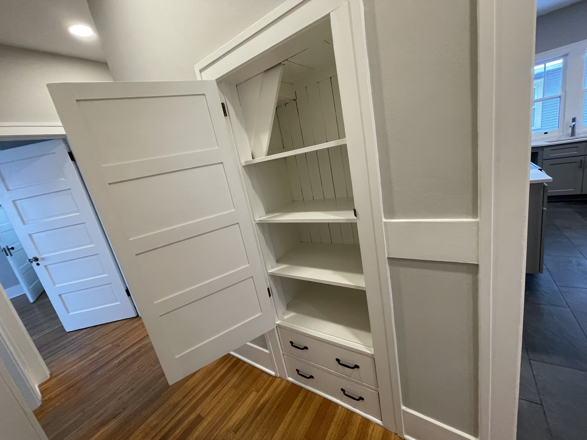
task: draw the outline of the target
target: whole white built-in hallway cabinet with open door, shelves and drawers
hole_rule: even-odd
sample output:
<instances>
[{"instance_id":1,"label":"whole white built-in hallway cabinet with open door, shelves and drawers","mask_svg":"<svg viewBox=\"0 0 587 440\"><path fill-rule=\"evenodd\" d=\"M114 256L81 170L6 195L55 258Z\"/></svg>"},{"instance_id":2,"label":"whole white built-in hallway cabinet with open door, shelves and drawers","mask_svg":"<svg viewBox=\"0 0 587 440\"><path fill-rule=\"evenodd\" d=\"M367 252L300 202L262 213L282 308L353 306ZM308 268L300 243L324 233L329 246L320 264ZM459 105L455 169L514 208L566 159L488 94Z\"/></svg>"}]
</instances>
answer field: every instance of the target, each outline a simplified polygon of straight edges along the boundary
<instances>
[{"instance_id":1,"label":"whole white built-in hallway cabinet with open door, shelves and drawers","mask_svg":"<svg viewBox=\"0 0 587 440\"><path fill-rule=\"evenodd\" d=\"M236 349L393 428L380 202L340 26L232 79L49 90L170 383Z\"/></svg>"}]
</instances>

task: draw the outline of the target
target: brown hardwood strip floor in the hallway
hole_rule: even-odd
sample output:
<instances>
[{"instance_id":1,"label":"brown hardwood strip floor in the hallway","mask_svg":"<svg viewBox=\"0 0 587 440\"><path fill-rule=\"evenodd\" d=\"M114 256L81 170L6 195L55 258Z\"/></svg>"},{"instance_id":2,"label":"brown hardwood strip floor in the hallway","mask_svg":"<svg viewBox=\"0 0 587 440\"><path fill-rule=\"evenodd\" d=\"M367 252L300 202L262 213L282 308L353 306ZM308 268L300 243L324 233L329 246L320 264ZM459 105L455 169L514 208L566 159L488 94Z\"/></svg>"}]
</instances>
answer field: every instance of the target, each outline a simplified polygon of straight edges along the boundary
<instances>
[{"instance_id":1,"label":"brown hardwood strip floor in the hallway","mask_svg":"<svg viewBox=\"0 0 587 440\"><path fill-rule=\"evenodd\" d=\"M50 439L400 439L230 355L170 387L138 317L67 333L45 293L12 303L51 372L35 411Z\"/></svg>"}]
</instances>

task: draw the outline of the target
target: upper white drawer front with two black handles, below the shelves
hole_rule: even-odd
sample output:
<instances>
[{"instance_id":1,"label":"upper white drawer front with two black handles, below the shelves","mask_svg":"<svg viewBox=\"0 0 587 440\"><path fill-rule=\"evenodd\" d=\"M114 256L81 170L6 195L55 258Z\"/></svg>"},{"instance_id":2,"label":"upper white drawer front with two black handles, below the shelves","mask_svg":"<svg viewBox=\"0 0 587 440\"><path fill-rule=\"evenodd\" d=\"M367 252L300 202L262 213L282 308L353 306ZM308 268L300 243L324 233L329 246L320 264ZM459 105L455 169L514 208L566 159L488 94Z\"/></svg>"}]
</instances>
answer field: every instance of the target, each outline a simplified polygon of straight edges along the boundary
<instances>
[{"instance_id":1,"label":"upper white drawer front with two black handles, below the shelves","mask_svg":"<svg viewBox=\"0 0 587 440\"><path fill-rule=\"evenodd\" d=\"M281 327L278 327L277 331L279 340L281 340L282 350L285 353L294 354L329 370L336 371L336 373L344 374L372 387L377 387L375 359L372 357L295 333L295 331L282 329Z\"/></svg>"}]
</instances>

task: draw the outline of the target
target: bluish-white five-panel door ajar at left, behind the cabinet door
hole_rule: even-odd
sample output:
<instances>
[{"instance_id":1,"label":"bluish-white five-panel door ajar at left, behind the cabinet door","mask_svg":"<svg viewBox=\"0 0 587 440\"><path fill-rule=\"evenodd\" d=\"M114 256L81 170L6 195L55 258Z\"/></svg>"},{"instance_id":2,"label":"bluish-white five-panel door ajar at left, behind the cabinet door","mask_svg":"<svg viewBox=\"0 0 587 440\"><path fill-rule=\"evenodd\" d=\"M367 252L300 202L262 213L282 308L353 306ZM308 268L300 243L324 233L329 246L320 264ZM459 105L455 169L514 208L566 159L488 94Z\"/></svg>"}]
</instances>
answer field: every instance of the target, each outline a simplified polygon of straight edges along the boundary
<instances>
[{"instance_id":1,"label":"bluish-white five-panel door ajar at left, behind the cabinet door","mask_svg":"<svg viewBox=\"0 0 587 440\"><path fill-rule=\"evenodd\" d=\"M136 316L65 142L0 151L0 198L65 330Z\"/></svg>"}]
</instances>

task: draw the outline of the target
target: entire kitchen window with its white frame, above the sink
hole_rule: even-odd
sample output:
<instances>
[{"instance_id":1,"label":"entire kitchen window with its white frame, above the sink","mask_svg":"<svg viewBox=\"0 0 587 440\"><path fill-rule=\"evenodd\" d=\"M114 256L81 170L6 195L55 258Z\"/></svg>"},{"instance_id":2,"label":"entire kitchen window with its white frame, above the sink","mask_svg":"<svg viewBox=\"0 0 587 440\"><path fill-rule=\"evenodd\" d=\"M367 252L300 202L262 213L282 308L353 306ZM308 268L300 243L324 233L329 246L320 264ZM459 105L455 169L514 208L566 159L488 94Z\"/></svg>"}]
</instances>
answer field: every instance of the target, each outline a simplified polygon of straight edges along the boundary
<instances>
[{"instance_id":1,"label":"entire kitchen window with its white frame, above the sink","mask_svg":"<svg viewBox=\"0 0 587 440\"><path fill-rule=\"evenodd\" d=\"M587 40L536 55L532 141L587 136Z\"/></svg>"}]
</instances>

